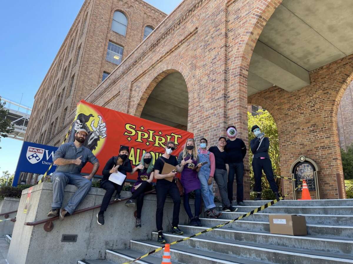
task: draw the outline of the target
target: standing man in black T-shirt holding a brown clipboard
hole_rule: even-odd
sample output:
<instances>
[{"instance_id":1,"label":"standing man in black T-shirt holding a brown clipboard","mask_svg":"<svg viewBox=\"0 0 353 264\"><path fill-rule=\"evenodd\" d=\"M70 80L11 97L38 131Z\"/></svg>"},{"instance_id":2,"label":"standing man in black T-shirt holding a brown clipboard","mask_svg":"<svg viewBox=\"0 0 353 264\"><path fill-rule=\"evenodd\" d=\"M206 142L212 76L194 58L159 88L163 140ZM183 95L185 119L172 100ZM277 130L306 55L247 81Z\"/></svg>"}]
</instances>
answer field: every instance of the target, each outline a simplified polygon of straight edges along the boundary
<instances>
[{"instance_id":1,"label":"standing man in black T-shirt holding a brown clipboard","mask_svg":"<svg viewBox=\"0 0 353 264\"><path fill-rule=\"evenodd\" d=\"M162 230L163 223L163 208L166 202L167 195L173 199L173 221L172 233L176 235L183 235L184 232L178 228L179 211L180 211L180 193L175 183L174 176L177 172L181 172L181 167L178 165L176 156L171 155L176 149L173 141L168 141L165 152L160 156L154 166L154 177L157 179L156 193L157 193L157 211L156 211L156 225L158 231L158 243L165 243Z\"/></svg>"}]
</instances>

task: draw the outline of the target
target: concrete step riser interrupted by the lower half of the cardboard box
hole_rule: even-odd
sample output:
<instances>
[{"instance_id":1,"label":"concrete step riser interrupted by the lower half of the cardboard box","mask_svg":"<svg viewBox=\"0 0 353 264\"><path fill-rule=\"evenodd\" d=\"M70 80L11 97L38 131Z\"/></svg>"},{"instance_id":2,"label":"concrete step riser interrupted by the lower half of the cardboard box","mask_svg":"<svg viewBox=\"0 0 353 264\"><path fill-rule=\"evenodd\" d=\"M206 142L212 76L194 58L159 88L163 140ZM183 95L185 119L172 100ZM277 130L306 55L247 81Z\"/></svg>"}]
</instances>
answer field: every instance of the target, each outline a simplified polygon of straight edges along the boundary
<instances>
[{"instance_id":1,"label":"concrete step riser interrupted by the lower half of the cardboard box","mask_svg":"<svg viewBox=\"0 0 353 264\"><path fill-rule=\"evenodd\" d=\"M246 218L245 218L246 219ZM202 226L214 227L219 224L228 222L226 219L211 219L211 218L200 218ZM259 221L235 221L227 224L225 228L234 228L237 230L247 231L265 231L270 232L270 223ZM346 238L353 239L353 226L330 226L330 225L319 225L319 224L306 224L306 230L308 235L323 236L327 238Z\"/></svg>"}]
</instances>

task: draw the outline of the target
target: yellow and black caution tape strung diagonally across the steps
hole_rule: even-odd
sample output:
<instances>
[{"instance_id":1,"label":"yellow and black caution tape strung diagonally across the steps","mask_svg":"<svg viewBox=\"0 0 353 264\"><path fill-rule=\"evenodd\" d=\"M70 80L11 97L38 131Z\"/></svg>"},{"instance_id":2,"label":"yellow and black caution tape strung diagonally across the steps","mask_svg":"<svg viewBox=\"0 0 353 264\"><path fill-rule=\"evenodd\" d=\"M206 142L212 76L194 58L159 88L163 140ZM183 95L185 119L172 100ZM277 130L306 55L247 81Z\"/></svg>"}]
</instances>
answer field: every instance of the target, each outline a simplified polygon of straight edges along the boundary
<instances>
[{"instance_id":1,"label":"yellow and black caution tape strung diagonally across the steps","mask_svg":"<svg viewBox=\"0 0 353 264\"><path fill-rule=\"evenodd\" d=\"M282 177L282 176L276 176L276 177L277 177L277 178L283 178L283 179L287 179L287 180L296 181L296 179L292 179L292 178L287 178L287 177ZM300 181L303 181L303 180L300 180ZM202 235L202 234L204 234L204 233L210 232L210 231L215 230L215 229L217 229L217 228L223 227L223 226L225 226L226 224L233 223L233 222L235 222L235 221L238 221L238 220L243 219L243 218L245 218L245 217L248 217L248 216L250 216L250 215L253 215L253 214L256 214L256 213L258 213L258 212L261 212L261 211L265 210L266 208L268 208L268 207L270 207L270 206L272 206L272 205L278 203L280 200L283 200L283 199L286 198L289 194L291 194L291 193L297 191L298 188L301 187L301 185L303 185L303 184L300 184L299 186L297 186L297 188L295 188L292 192L287 193L287 194L281 196L280 198L274 199L274 200L272 200L271 202L268 202L267 204L264 204L264 205L262 205L262 206L259 206L258 208L252 210L251 212L248 212L248 213L246 213L246 214L244 214L244 215L241 215L241 216L239 216L239 217L237 217L237 218L235 218L235 219L233 219L233 220L231 220L231 221L228 221L228 222L223 223L223 224L219 224L218 226L210 227L210 228L205 229L205 230L203 230L203 231L201 231L201 232L199 232L199 233L197 233L197 234L194 234L194 235L189 236L189 237L187 237L187 238L183 238L183 239L180 239L180 240L171 242L171 243L169 243L169 244L170 244L170 245L178 244L178 243L180 243L180 242L182 242L182 241L185 241L185 240L188 240L188 239L191 239L191 238L195 238L195 236ZM141 256L141 257L139 257L139 258L136 258L136 259L134 259L134 260L132 260L132 261L130 261L130 262L124 262L124 263L122 263L122 264L131 264L131 263L133 263L133 262L135 262L135 261L137 261L137 260L140 260L140 259L142 259L142 258L145 258L145 257L147 257L147 256L149 256L149 255L151 255L151 254L153 254L153 253L156 253L156 252L158 252L158 251L161 251L164 247L165 247L165 246L158 247L158 248L156 248L155 250L152 250L151 252L148 252L148 253L144 254L143 256Z\"/></svg>"}]
</instances>

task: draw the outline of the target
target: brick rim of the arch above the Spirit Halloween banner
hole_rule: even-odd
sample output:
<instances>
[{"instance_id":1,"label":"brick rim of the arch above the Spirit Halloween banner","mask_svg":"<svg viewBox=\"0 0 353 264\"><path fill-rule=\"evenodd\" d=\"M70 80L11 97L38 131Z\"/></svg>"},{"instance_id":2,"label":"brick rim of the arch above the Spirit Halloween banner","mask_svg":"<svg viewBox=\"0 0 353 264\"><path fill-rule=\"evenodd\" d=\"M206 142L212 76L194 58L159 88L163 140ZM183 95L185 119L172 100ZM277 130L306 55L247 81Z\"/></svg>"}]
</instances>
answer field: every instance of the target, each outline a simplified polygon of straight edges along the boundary
<instances>
[{"instance_id":1,"label":"brick rim of the arch above the Spirit Halloween banner","mask_svg":"<svg viewBox=\"0 0 353 264\"><path fill-rule=\"evenodd\" d=\"M146 74L145 83L147 83L148 85L146 86L146 88L140 91L140 98L138 100L136 109L134 111L131 111L133 115L138 117L141 116L142 110L153 89L164 77L166 77L167 75L173 72L179 72L184 77L184 80L186 82L187 92L189 96L191 95L190 89L194 85L194 82L192 80L192 74L189 68L187 68L185 64L179 61L165 62L153 68L153 70L151 70L150 73ZM190 97L189 97L189 102L190 102Z\"/></svg>"}]
</instances>

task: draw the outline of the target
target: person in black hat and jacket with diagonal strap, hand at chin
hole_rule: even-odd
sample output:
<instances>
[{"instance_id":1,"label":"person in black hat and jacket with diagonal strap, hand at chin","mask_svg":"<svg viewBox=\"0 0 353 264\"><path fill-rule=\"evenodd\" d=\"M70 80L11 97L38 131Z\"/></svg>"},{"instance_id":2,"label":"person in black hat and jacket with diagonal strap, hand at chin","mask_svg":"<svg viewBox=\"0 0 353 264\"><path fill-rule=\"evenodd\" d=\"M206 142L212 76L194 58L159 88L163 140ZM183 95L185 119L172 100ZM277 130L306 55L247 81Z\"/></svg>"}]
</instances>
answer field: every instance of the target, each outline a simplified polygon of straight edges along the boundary
<instances>
[{"instance_id":1,"label":"person in black hat and jacket with diagonal strap, hand at chin","mask_svg":"<svg viewBox=\"0 0 353 264\"><path fill-rule=\"evenodd\" d=\"M255 125L251 128L251 132L254 133L255 138L250 141L250 148L254 154L252 157L252 169L254 171L255 187L254 191L257 192L255 200L261 200L261 177L262 169L266 174L266 178L270 184L271 190L275 193L275 197L279 198L278 187L275 182L275 176L273 174L272 163L270 156L268 155L268 148L270 146L270 140L265 137L264 133L261 133L260 128Z\"/></svg>"}]
</instances>

